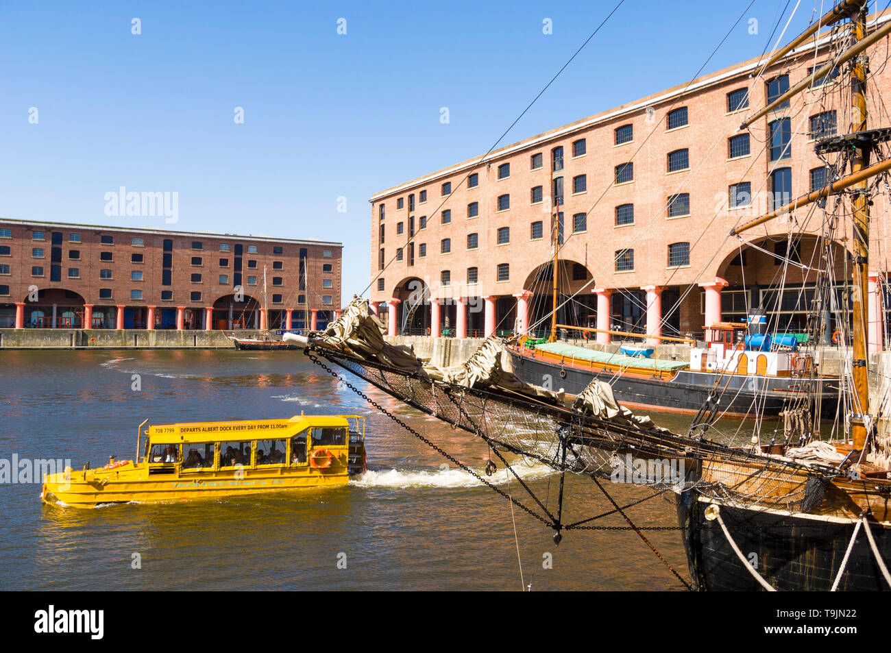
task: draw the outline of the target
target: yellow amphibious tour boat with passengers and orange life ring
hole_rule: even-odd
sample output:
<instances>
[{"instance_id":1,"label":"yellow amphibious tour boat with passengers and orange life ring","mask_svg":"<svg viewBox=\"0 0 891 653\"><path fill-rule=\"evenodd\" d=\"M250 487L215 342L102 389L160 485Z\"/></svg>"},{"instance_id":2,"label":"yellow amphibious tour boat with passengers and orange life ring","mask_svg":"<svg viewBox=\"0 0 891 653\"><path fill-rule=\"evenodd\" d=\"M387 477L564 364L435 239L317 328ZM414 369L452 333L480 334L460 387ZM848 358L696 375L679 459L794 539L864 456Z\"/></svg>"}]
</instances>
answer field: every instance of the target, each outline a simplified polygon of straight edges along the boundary
<instances>
[{"instance_id":1,"label":"yellow amphibious tour boat with passengers and orange life ring","mask_svg":"<svg viewBox=\"0 0 891 653\"><path fill-rule=\"evenodd\" d=\"M169 502L343 486L365 469L365 419L298 415L283 420L139 425L136 459L46 477L43 500L78 508ZM145 437L144 442L142 441Z\"/></svg>"}]
</instances>

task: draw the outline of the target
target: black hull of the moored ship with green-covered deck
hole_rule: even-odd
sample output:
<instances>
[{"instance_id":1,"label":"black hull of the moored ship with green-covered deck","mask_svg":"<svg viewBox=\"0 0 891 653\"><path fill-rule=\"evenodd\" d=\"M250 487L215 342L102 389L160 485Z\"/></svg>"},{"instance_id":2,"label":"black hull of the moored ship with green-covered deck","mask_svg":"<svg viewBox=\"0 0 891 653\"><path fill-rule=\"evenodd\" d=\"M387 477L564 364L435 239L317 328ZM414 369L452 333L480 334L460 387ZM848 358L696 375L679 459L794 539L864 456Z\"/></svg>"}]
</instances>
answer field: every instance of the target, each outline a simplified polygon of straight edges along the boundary
<instances>
[{"instance_id":1,"label":"black hull of the moored ship with green-covered deck","mask_svg":"<svg viewBox=\"0 0 891 653\"><path fill-rule=\"evenodd\" d=\"M743 417L756 408L764 415L778 415L783 408L803 397L820 396L821 417L835 417L838 407L838 381L809 380L792 377L764 377L718 372L682 370L666 380L641 378L637 375L581 370L546 360L521 355L511 350L514 373L522 380L545 388L560 389L577 395L592 379L607 381L621 404L659 411L696 413L708 398L708 393L719 387L720 410L728 416ZM809 390L813 392L808 393ZM757 399L757 403L756 403Z\"/></svg>"}]
</instances>

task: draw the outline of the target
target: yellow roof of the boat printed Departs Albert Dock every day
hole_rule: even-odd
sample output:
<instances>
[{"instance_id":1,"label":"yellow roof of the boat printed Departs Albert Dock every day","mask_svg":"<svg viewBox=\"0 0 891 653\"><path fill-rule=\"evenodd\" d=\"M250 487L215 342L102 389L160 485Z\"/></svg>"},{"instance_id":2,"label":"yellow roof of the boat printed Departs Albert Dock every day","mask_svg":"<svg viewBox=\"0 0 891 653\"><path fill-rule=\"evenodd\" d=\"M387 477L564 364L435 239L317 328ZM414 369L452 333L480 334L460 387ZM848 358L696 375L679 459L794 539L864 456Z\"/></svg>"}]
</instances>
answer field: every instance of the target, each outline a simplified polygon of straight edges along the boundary
<instances>
[{"instance_id":1,"label":"yellow roof of the boat printed Departs Albert Dock every day","mask_svg":"<svg viewBox=\"0 0 891 653\"><path fill-rule=\"evenodd\" d=\"M157 424L148 429L148 435L152 445L178 445L290 437L309 427L349 428L349 420L339 415L295 415L278 420L192 421Z\"/></svg>"}]
</instances>

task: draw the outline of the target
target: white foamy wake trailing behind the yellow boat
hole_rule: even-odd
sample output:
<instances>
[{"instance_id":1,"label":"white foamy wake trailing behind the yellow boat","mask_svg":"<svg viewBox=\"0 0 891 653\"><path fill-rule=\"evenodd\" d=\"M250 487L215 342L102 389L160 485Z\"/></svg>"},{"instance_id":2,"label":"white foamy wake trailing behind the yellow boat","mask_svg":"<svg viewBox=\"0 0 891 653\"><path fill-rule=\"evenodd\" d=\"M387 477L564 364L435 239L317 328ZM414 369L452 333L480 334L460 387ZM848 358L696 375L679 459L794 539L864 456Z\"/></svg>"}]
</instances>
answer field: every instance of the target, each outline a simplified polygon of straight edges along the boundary
<instances>
[{"instance_id":1,"label":"white foamy wake trailing behind the yellow boat","mask_svg":"<svg viewBox=\"0 0 891 653\"><path fill-rule=\"evenodd\" d=\"M533 480L535 478L545 478L553 473L553 469L547 465L535 465L527 467L525 465L516 465L514 470L524 481ZM480 476L486 478L489 483L495 486L502 486L508 480L516 481L516 478L507 470L500 467L492 476L487 477L486 472L482 469L474 469ZM462 487L482 487L483 484L477 478L472 477L463 469L437 469L436 471L426 471L423 469L407 470L407 469L380 469L369 470L363 474L351 478L349 485L356 487L392 487L397 489L408 489L412 487L443 487L443 488L462 488Z\"/></svg>"}]
</instances>

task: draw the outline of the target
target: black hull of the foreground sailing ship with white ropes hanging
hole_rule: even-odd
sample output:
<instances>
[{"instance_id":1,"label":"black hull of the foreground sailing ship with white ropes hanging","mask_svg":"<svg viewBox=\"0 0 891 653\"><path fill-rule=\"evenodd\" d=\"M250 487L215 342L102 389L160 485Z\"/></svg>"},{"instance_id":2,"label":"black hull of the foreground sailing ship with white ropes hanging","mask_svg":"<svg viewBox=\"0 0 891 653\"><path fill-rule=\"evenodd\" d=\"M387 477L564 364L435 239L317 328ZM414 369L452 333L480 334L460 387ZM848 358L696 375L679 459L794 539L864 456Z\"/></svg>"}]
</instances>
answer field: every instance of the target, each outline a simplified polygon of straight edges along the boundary
<instances>
[{"instance_id":1,"label":"black hull of the foreground sailing ship with white ropes hanging","mask_svg":"<svg viewBox=\"0 0 891 653\"><path fill-rule=\"evenodd\" d=\"M743 565L718 521L706 518L711 500L695 491L677 497L678 522L693 584L700 591L764 590ZM721 518L750 564L778 591L827 592L854 535L853 519L743 508L722 503ZM891 556L888 528L871 521L882 559ZM861 527L838 591L887 591L888 586Z\"/></svg>"}]
</instances>

